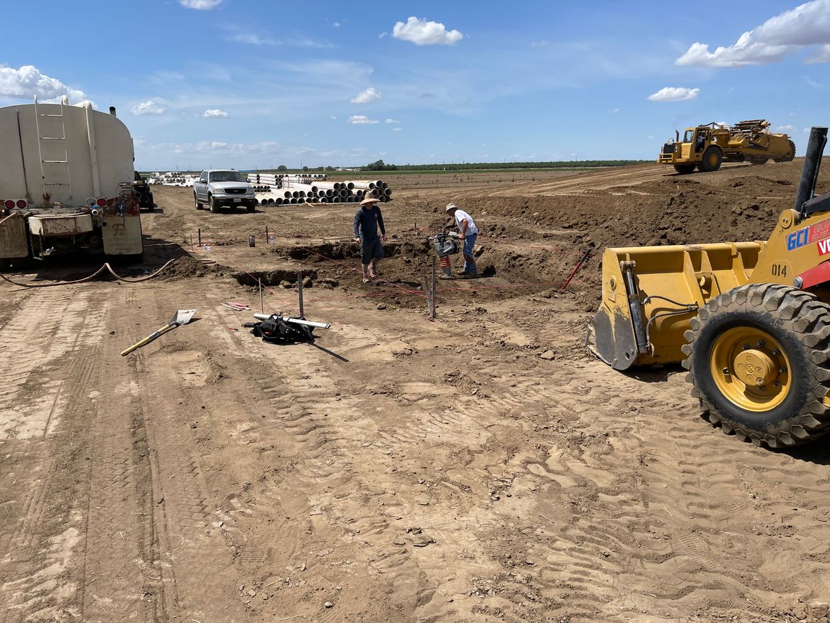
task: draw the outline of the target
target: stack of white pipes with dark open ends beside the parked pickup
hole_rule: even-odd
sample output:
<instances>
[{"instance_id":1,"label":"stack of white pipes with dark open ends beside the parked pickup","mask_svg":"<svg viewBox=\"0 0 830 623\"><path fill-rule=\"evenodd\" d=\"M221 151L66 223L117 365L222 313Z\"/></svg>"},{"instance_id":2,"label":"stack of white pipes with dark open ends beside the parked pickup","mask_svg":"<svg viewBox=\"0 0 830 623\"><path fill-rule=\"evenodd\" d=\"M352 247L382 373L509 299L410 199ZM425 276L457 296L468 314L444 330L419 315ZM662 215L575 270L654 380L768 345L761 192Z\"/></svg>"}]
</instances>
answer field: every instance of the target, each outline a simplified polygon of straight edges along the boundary
<instances>
[{"instance_id":1,"label":"stack of white pipes with dark open ends beside the parked pickup","mask_svg":"<svg viewBox=\"0 0 830 623\"><path fill-rule=\"evenodd\" d=\"M382 179L330 182L303 175L256 174L256 177L249 175L248 181L271 187L263 196L257 196L259 204L263 206L356 204L363 201L367 194L384 204L392 199L392 189Z\"/></svg>"}]
</instances>

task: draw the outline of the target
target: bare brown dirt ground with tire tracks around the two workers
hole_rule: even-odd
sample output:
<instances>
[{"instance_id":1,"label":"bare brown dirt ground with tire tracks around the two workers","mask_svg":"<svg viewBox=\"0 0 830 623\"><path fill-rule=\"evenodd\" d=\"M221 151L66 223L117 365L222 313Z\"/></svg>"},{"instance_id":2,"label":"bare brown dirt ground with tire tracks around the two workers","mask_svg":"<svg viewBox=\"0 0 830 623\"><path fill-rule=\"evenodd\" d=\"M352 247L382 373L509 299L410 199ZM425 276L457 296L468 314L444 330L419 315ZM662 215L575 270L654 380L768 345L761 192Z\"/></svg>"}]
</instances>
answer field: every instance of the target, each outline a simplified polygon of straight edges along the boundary
<instances>
[{"instance_id":1,"label":"bare brown dirt ground with tire tracks around the two workers","mask_svg":"<svg viewBox=\"0 0 830 623\"><path fill-rule=\"evenodd\" d=\"M367 287L354 204L210 214L155 187L121 270L176 258L159 277L0 282L0 621L828 621L830 444L741 444L680 368L583 349L603 246L763 238L800 166L393 176ZM441 282L429 321L450 200L486 277ZM258 311L261 279L295 313L300 270L317 347L222 306Z\"/></svg>"}]
</instances>

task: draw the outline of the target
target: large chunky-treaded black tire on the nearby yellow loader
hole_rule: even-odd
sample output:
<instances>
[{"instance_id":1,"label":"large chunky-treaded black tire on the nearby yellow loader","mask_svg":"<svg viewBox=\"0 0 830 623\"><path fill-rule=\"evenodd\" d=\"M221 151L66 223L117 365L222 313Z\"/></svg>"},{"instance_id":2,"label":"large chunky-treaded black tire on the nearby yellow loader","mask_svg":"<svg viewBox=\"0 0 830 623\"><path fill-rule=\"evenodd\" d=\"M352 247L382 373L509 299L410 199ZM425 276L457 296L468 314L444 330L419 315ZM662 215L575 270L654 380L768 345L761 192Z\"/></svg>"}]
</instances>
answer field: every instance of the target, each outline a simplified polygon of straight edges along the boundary
<instances>
[{"instance_id":1,"label":"large chunky-treaded black tire on the nearby yellow loader","mask_svg":"<svg viewBox=\"0 0 830 623\"><path fill-rule=\"evenodd\" d=\"M774 361L784 362L773 370L778 376L774 382L767 381L764 390L745 386L744 395L754 393L756 400L765 391L773 392L769 409L765 403L755 403L758 408L754 410L745 409L728 395L743 386L740 370L732 368L730 374L722 374L716 349L735 335L735 330L769 336L764 348L774 347ZM691 394L701 401L703 416L720 424L726 434L734 433L756 445L784 448L817 439L830 429L830 408L824 402L830 391L828 304L794 287L752 283L735 287L701 307L685 337L689 343L683 346L687 356L683 367L689 370L686 380L694 386ZM762 343L751 348L760 349ZM740 348L746 351L747 346ZM735 385L725 392L719 382Z\"/></svg>"}]
</instances>

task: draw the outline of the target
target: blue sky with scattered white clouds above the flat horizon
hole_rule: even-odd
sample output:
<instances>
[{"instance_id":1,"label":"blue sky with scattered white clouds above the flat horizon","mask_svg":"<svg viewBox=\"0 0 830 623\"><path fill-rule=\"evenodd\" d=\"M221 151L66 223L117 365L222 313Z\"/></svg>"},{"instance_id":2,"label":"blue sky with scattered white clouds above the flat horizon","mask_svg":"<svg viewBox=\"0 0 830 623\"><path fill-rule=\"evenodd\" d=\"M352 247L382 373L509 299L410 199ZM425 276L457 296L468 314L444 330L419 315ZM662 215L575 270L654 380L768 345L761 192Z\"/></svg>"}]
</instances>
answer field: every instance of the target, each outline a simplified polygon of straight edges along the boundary
<instances>
[{"instance_id":1,"label":"blue sky with scattered white clouds above the flat horizon","mask_svg":"<svg viewBox=\"0 0 830 623\"><path fill-rule=\"evenodd\" d=\"M830 0L4 5L0 105L115 105L142 170L652 159L758 117L803 154L830 123Z\"/></svg>"}]
</instances>

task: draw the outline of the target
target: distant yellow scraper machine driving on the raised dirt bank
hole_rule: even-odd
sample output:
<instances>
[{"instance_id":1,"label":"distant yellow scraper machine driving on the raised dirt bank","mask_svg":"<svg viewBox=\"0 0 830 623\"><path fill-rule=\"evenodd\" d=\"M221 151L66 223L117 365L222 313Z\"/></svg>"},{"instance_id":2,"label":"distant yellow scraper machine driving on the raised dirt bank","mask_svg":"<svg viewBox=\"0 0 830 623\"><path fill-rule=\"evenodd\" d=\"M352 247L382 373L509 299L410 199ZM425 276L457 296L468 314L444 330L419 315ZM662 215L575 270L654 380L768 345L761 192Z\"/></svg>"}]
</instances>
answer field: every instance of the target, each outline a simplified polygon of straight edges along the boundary
<instances>
[{"instance_id":1,"label":"distant yellow scraper machine driving on the raised dirt bank","mask_svg":"<svg viewBox=\"0 0 830 623\"><path fill-rule=\"evenodd\" d=\"M769 121L739 121L731 127L719 123L686 128L670 140L657 157L661 164L673 164L677 173L716 171L724 162L764 164L769 159L789 162L795 158L795 144L788 135L769 131Z\"/></svg>"}]
</instances>

